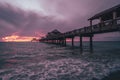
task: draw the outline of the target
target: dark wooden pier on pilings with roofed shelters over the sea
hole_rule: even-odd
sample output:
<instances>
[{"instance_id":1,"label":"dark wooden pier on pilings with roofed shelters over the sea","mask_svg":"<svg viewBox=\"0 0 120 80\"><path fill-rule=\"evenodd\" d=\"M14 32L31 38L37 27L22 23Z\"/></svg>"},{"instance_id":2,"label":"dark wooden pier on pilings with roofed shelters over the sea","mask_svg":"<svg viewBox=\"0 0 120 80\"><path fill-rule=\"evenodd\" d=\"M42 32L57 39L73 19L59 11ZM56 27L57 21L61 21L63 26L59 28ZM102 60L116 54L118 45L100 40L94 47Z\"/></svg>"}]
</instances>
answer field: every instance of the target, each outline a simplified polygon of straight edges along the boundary
<instances>
[{"instance_id":1,"label":"dark wooden pier on pilings with roofed shelters over the sea","mask_svg":"<svg viewBox=\"0 0 120 80\"><path fill-rule=\"evenodd\" d=\"M98 24L93 24L93 21L99 20ZM80 37L80 50L83 51L83 37L89 37L90 51L93 51L93 37L95 34L120 31L120 5L112 7L108 10L100 12L89 18L90 26L75 29L65 33L58 30L49 32L46 37L41 38L41 42L55 43L66 46L66 39L71 38L72 47L74 47L74 38Z\"/></svg>"}]
</instances>

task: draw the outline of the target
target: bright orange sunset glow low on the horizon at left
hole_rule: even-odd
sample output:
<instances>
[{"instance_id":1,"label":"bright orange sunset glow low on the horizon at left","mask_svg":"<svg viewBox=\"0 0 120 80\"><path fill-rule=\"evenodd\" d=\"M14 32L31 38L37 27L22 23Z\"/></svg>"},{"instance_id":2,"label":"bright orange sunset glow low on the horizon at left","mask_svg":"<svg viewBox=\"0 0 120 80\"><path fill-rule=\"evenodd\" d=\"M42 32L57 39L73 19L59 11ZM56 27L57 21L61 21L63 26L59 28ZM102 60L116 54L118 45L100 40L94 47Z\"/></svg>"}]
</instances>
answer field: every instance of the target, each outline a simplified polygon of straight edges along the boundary
<instances>
[{"instance_id":1,"label":"bright orange sunset glow low on the horizon at left","mask_svg":"<svg viewBox=\"0 0 120 80\"><path fill-rule=\"evenodd\" d=\"M4 42L30 42L34 38L39 39L39 37L27 37L27 36L11 35L11 36L3 37L2 40Z\"/></svg>"}]
</instances>

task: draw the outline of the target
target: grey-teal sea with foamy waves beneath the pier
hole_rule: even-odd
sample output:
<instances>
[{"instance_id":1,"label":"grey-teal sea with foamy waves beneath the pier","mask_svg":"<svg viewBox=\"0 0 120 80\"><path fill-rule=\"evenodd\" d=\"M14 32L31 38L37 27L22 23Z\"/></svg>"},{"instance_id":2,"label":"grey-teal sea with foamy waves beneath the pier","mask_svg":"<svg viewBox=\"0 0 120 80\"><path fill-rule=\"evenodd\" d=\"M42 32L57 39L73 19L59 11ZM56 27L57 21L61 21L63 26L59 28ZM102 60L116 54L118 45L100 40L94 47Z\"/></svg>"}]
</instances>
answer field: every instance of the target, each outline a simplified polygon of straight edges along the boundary
<instances>
[{"instance_id":1,"label":"grey-teal sea with foamy waves beneath the pier","mask_svg":"<svg viewBox=\"0 0 120 80\"><path fill-rule=\"evenodd\" d=\"M88 42L80 53L79 47L1 42L0 80L91 80L120 69L120 42L93 44L93 53Z\"/></svg>"}]
</instances>

